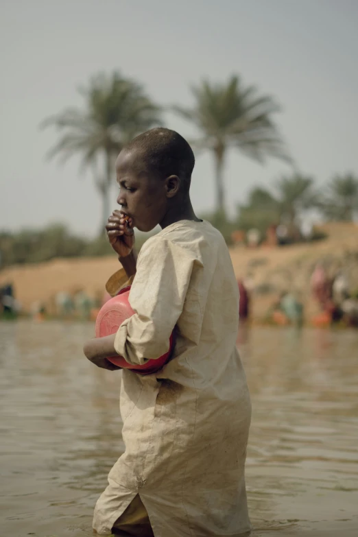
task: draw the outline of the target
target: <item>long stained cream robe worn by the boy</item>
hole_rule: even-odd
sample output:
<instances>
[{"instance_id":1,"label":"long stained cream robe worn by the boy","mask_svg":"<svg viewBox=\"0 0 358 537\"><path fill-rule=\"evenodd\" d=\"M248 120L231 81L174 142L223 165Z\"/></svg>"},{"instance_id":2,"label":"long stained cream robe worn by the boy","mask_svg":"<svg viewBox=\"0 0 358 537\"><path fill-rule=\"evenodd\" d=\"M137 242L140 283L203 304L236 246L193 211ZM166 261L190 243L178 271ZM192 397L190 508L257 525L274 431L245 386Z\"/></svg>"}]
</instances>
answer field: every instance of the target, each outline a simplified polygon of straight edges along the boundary
<instances>
[{"instance_id":1,"label":"long stained cream robe worn by the boy","mask_svg":"<svg viewBox=\"0 0 358 537\"><path fill-rule=\"evenodd\" d=\"M182 220L149 239L130 291L136 314L117 332L129 363L174 356L148 376L123 370L126 451L110 470L93 527L112 525L139 494L155 537L237 537L250 530L244 465L251 405L236 348L239 297L224 239Z\"/></svg>"}]
</instances>

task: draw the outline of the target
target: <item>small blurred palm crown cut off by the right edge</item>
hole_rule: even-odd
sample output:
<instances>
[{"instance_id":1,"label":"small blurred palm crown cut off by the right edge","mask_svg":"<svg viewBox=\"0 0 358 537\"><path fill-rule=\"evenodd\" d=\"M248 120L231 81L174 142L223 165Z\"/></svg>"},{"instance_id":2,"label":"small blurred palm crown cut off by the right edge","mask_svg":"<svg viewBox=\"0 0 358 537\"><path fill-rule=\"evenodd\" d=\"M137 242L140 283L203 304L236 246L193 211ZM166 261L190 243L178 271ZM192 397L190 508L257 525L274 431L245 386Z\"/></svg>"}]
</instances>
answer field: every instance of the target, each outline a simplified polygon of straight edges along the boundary
<instances>
[{"instance_id":1,"label":"small blurred palm crown cut off by the right edge","mask_svg":"<svg viewBox=\"0 0 358 537\"><path fill-rule=\"evenodd\" d=\"M358 212L358 178L353 174L335 176L322 202L322 212L328 219L352 222Z\"/></svg>"}]
</instances>

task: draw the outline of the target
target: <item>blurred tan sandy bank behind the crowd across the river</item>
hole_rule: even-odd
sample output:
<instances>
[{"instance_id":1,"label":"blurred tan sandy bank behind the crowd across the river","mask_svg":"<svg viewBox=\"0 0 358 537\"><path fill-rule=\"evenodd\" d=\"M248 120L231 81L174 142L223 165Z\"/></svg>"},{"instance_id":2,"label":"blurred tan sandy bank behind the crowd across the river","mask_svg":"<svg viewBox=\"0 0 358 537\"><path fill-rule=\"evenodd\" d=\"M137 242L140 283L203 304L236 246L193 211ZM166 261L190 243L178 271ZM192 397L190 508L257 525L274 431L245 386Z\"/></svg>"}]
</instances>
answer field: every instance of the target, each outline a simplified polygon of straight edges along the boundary
<instances>
[{"instance_id":1,"label":"blurred tan sandy bank behind the crowd across the river","mask_svg":"<svg viewBox=\"0 0 358 537\"><path fill-rule=\"evenodd\" d=\"M353 288L358 288L358 225L326 224L328 237L320 242L281 248L230 248L238 278L250 274L254 287L253 317L261 317L281 290L293 290L304 302L309 314L315 305L309 297L309 278L317 261L324 261L334 274L344 268ZM14 265L0 272L0 285L14 284L16 298L24 311L36 301L49 309L60 291L74 294L83 289L89 296L102 296L109 276L118 270L117 257L53 259L36 265Z\"/></svg>"}]
</instances>

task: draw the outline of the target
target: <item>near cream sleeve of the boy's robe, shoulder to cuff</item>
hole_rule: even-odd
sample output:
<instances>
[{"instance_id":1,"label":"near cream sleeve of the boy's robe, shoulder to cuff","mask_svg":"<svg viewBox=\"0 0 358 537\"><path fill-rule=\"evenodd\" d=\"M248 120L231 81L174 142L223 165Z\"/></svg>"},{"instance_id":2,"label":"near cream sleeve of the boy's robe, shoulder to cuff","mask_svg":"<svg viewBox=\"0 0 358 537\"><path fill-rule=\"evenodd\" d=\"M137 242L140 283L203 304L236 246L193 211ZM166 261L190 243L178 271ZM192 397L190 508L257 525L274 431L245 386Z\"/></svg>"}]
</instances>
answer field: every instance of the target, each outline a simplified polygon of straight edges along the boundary
<instances>
[{"instance_id":1,"label":"near cream sleeve of the boy's robe, shoulder to cuff","mask_svg":"<svg viewBox=\"0 0 358 537\"><path fill-rule=\"evenodd\" d=\"M151 237L141 250L130 290L134 315L123 321L115 349L128 363L143 365L169 350L169 338L184 307L191 272L202 263L189 250Z\"/></svg>"}]
</instances>

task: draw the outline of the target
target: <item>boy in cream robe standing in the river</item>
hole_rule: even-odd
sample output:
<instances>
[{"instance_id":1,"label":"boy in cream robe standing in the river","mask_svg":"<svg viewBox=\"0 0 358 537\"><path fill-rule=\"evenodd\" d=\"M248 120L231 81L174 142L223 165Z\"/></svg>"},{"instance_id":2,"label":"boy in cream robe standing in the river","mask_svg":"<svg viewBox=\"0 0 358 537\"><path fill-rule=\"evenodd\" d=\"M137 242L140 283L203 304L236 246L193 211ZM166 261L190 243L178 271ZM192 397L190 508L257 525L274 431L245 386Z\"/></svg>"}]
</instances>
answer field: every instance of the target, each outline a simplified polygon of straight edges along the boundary
<instances>
[{"instance_id":1,"label":"boy in cream robe standing in the river","mask_svg":"<svg viewBox=\"0 0 358 537\"><path fill-rule=\"evenodd\" d=\"M120 191L106 226L132 288L136 312L117 334L92 339L84 353L145 363L176 345L147 376L123 370L126 451L97 501L102 535L237 537L250 532L244 465L250 396L237 353L237 282L220 233L195 216L189 197L191 147L158 128L130 142L116 162ZM126 222L128 220L128 222ZM162 230L134 254L133 227Z\"/></svg>"}]
</instances>

